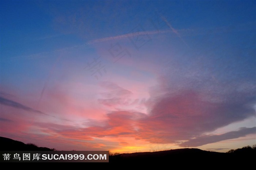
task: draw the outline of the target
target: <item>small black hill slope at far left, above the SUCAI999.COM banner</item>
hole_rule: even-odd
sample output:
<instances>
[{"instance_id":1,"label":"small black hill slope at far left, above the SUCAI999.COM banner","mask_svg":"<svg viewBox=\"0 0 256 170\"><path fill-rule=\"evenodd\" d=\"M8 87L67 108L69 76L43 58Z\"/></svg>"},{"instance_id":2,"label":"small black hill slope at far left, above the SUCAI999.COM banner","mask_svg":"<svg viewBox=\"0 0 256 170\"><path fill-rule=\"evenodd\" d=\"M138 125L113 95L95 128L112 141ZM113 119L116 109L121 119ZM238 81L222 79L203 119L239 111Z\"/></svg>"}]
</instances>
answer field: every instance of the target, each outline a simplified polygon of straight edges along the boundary
<instances>
[{"instance_id":1,"label":"small black hill slope at far left, above the SUCAI999.COM banner","mask_svg":"<svg viewBox=\"0 0 256 170\"><path fill-rule=\"evenodd\" d=\"M50 149L48 147L38 147L33 143L25 144L20 141L15 141L10 138L0 137L0 150L1 151L52 151L55 149Z\"/></svg>"}]
</instances>

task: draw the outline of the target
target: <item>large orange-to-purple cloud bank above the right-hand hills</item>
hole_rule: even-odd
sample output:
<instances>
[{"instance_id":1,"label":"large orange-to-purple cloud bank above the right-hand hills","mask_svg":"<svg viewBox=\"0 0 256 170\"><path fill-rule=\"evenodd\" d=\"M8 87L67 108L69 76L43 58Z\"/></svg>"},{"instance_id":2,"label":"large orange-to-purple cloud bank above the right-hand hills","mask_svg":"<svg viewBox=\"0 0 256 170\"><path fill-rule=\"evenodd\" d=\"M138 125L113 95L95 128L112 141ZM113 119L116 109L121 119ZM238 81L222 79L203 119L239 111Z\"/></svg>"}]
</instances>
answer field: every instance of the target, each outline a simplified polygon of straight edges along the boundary
<instances>
[{"instance_id":1,"label":"large orange-to-purple cloud bank above the right-hand hills","mask_svg":"<svg viewBox=\"0 0 256 170\"><path fill-rule=\"evenodd\" d=\"M124 94L124 89L113 84ZM54 130L72 138L86 137L132 137L150 143L176 143L184 146L201 146L207 143L243 137L255 133L255 127L231 131L223 135L202 136L219 127L243 120L254 115L253 109L241 103L214 103L202 100L195 91L181 91L176 95L165 94L154 100L150 114L118 110L107 114L105 122L98 126ZM245 103L244 103L245 102ZM113 104L113 103L112 103ZM243 113L243 114L241 114ZM195 138L196 139L192 139ZM188 142L181 142L186 141ZM202 141L202 142L201 142Z\"/></svg>"}]
</instances>

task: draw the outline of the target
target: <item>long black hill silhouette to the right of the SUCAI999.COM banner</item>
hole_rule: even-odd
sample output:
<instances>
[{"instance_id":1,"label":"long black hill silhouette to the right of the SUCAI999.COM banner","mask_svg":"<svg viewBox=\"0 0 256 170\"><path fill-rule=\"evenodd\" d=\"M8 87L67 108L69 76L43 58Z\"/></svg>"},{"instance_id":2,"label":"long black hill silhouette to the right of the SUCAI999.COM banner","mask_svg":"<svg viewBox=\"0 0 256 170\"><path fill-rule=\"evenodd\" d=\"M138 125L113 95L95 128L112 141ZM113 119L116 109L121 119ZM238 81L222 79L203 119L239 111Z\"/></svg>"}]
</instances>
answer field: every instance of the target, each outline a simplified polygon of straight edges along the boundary
<instances>
[{"instance_id":1,"label":"long black hill silhouette to the right of the SUCAI999.COM banner","mask_svg":"<svg viewBox=\"0 0 256 170\"><path fill-rule=\"evenodd\" d=\"M236 149L234 152L219 153L214 151L204 151L196 148L187 149L174 149L157 152L142 152L131 154L115 154L109 157L110 163L143 163L143 164L166 164L166 163L180 163L195 164L195 163L208 163L236 166L247 166L247 162L254 162L256 156L256 148L243 147ZM182 164L183 165L183 164Z\"/></svg>"}]
</instances>

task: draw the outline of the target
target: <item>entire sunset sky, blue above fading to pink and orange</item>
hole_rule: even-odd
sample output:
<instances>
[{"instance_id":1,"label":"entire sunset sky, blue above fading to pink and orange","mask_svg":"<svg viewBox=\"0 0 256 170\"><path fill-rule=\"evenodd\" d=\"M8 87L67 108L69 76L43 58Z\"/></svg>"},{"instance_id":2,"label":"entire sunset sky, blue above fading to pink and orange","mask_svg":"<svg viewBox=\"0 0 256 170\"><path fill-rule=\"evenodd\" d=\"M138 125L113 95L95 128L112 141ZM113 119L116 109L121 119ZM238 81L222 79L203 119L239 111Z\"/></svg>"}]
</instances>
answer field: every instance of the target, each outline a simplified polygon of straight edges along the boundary
<instances>
[{"instance_id":1,"label":"entire sunset sky, blue above fading to pink and orange","mask_svg":"<svg viewBox=\"0 0 256 170\"><path fill-rule=\"evenodd\" d=\"M256 144L256 1L0 1L0 136L118 153Z\"/></svg>"}]
</instances>

